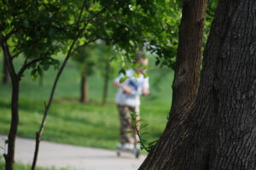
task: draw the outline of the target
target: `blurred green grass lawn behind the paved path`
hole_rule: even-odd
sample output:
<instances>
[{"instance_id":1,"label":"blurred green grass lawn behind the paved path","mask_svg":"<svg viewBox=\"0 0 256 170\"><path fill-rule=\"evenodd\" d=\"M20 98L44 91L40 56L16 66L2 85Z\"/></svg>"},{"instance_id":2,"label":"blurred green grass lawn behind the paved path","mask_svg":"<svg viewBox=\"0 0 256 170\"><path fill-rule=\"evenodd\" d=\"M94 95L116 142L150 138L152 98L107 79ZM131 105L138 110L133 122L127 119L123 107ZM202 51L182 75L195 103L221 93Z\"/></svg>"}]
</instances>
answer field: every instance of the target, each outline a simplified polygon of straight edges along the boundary
<instances>
[{"instance_id":1,"label":"blurred green grass lawn behind the paved path","mask_svg":"<svg viewBox=\"0 0 256 170\"><path fill-rule=\"evenodd\" d=\"M1 59L3 59L1 57ZM20 65L21 60L16 62ZM2 60L0 69L2 71ZM41 122L44 101L47 101L56 71L50 69L44 74L44 85L33 82L29 71L20 83L20 124L18 136L34 138ZM145 136L148 141L160 137L166 125L166 117L172 100L172 71L168 69L150 70L149 97L143 97L141 117L148 123ZM114 104L116 89L109 84L108 104L101 105L102 77L99 74L89 77L88 104L80 104L79 72L72 61L61 76L55 91L55 100L49 111L44 140L65 144L78 144L106 149L116 149L119 141L119 116ZM0 133L9 132L11 85L0 83Z\"/></svg>"}]
</instances>

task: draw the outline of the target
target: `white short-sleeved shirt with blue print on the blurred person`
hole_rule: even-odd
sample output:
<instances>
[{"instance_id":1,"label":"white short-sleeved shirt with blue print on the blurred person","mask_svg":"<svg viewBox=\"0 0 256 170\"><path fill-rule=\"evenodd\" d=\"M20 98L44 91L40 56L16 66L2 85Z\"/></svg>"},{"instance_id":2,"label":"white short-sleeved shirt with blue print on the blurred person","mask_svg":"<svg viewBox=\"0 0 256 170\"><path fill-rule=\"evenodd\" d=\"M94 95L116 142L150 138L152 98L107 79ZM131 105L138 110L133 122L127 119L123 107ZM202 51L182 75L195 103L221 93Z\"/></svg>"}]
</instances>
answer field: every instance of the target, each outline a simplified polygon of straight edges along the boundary
<instances>
[{"instance_id":1,"label":"white short-sleeved shirt with blue print on the blurred person","mask_svg":"<svg viewBox=\"0 0 256 170\"><path fill-rule=\"evenodd\" d=\"M118 105L136 107L140 105L140 95L142 94L143 88L149 88L148 77L144 77L143 74L135 77L136 73L133 69L130 69L125 73L128 78L126 78L125 82L122 82L122 84L131 88L131 94L125 94L125 91L122 88L119 88L116 95L116 103ZM122 77L124 77L123 74L119 75L119 77L114 79L114 82L119 82Z\"/></svg>"}]
</instances>

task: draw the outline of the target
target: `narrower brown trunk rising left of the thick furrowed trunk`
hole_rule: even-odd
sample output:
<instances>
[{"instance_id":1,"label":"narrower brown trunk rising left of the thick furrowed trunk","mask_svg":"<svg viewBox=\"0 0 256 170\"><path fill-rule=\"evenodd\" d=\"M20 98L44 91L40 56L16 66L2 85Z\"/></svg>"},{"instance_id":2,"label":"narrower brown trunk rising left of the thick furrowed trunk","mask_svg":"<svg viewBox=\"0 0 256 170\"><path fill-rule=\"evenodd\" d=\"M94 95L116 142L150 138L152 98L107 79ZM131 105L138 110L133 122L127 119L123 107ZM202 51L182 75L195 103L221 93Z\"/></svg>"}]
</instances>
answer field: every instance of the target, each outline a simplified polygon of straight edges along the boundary
<instances>
[{"instance_id":1,"label":"narrower brown trunk rising left of the thick furrowed trunk","mask_svg":"<svg viewBox=\"0 0 256 170\"><path fill-rule=\"evenodd\" d=\"M186 1L183 3L177 61L172 84L173 116L188 110L195 100L199 85L201 43L207 0Z\"/></svg>"}]
</instances>

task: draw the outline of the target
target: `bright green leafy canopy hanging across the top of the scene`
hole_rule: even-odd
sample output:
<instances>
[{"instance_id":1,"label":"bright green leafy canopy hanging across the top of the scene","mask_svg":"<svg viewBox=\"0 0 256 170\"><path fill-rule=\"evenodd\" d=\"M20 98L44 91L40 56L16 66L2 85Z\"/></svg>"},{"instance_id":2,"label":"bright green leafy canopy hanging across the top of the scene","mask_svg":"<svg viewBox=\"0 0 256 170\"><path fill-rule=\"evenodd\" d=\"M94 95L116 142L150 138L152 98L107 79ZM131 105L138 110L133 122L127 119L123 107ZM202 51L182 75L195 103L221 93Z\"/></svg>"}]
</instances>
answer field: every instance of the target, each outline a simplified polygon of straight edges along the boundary
<instances>
[{"instance_id":1,"label":"bright green leafy canopy hanging across the top of the scene","mask_svg":"<svg viewBox=\"0 0 256 170\"><path fill-rule=\"evenodd\" d=\"M79 14L79 9L84 8ZM2 1L0 31L8 39L12 56L40 59L32 75L58 63L53 55L102 39L124 50L132 60L137 48L158 54L156 64L172 65L177 48L178 3L148 0ZM163 60L164 59L164 60ZM163 62L160 62L163 61Z\"/></svg>"}]
</instances>

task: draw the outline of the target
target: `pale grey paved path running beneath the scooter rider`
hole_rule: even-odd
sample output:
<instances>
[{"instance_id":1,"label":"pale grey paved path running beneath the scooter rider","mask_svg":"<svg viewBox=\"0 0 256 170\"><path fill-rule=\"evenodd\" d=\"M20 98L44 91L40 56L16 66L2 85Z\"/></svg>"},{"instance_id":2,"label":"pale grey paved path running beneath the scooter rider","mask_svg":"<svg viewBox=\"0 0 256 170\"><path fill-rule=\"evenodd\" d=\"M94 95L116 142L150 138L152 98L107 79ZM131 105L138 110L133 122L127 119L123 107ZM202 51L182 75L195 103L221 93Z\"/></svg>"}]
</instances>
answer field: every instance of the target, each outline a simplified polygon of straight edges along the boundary
<instances>
[{"instance_id":1,"label":"pale grey paved path running beneath the scooter rider","mask_svg":"<svg viewBox=\"0 0 256 170\"><path fill-rule=\"evenodd\" d=\"M2 147L4 146L3 139L6 137L0 135L0 146ZM16 140L15 161L31 164L34 147L35 140L18 138ZM0 154L3 154L1 148ZM135 170L144 159L145 156L135 159L128 153L118 157L114 150L42 141L38 155L38 166L67 167L68 170Z\"/></svg>"}]
</instances>

